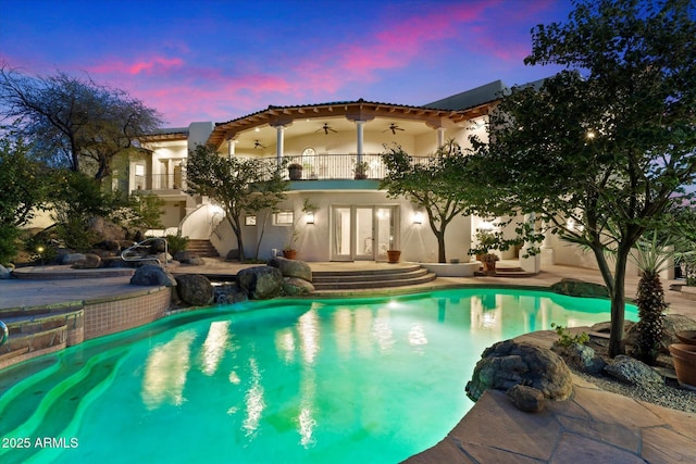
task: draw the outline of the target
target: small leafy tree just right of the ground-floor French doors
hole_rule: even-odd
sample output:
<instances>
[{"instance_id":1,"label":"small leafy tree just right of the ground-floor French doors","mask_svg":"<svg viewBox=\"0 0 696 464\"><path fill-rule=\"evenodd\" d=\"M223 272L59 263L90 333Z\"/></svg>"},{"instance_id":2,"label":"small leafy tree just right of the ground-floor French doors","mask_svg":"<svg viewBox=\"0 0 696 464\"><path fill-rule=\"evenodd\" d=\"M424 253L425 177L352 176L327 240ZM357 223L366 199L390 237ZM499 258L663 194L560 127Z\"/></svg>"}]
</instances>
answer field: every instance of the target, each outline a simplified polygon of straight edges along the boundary
<instances>
[{"instance_id":1,"label":"small leafy tree just right of the ground-floor French doors","mask_svg":"<svg viewBox=\"0 0 696 464\"><path fill-rule=\"evenodd\" d=\"M382 160L387 173L380 188L387 197L407 197L427 213L431 230L437 239L437 260L446 263L445 231L452 220L467 212L469 200L461 196L461 178L452 173L461 172L465 158L459 145L450 140L437 149L426 163L413 162L398 145L386 148Z\"/></svg>"}]
</instances>

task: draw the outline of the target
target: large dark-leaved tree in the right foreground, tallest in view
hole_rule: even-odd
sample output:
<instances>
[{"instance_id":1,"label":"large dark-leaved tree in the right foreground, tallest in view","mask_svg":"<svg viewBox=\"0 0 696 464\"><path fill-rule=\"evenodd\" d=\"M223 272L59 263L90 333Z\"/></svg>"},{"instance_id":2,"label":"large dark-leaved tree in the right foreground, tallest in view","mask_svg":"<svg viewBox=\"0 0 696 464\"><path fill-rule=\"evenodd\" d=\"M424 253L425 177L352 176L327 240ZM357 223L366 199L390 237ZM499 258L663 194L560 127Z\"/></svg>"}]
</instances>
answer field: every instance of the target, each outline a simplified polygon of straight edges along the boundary
<instances>
[{"instance_id":1,"label":"large dark-leaved tree in the right foreground, tallest in view","mask_svg":"<svg viewBox=\"0 0 696 464\"><path fill-rule=\"evenodd\" d=\"M696 181L696 24L688 0L574 5L566 24L533 29L525 59L566 70L500 99L489 143L472 140L467 179L492 188L482 208L537 213L593 251L611 297L614 356L624 351L629 253Z\"/></svg>"}]
</instances>

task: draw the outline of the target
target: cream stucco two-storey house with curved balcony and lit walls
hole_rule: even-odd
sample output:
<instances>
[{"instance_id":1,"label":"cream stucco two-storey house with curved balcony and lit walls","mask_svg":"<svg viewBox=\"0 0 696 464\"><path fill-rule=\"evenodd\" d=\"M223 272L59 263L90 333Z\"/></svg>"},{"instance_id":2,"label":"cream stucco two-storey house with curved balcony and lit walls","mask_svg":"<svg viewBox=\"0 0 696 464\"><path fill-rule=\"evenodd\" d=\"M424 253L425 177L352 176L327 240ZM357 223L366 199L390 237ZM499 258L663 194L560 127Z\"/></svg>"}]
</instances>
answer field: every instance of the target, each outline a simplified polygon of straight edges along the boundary
<instances>
[{"instance_id":1,"label":"cream stucco two-storey house with curved balcony and lit walls","mask_svg":"<svg viewBox=\"0 0 696 464\"><path fill-rule=\"evenodd\" d=\"M165 233L209 239L225 256L234 254L237 241L222 209L211 199L185 193L188 151L210 143L221 156L284 160L295 167L286 174L287 200L277 214L245 216L246 256L254 256L259 246L262 260L291 247L303 261L386 261L386 251L398 249L402 261L436 262L437 241L425 212L378 189L385 175L380 153L385 145L398 143L421 162L449 139L462 148L469 147L472 134L485 140L487 115L505 89L496 80L422 106L362 99L271 105L224 123L163 129L144 141L149 154L132 158L121 183L128 191L153 193L165 202ZM306 200L316 208L313 214L302 211ZM447 259L470 261L476 229L489 226L475 216L456 218L447 228ZM542 250L540 256L520 259L522 267L538 272L554 263L596 266L592 254L550 235ZM520 254L509 250L501 258Z\"/></svg>"}]
</instances>

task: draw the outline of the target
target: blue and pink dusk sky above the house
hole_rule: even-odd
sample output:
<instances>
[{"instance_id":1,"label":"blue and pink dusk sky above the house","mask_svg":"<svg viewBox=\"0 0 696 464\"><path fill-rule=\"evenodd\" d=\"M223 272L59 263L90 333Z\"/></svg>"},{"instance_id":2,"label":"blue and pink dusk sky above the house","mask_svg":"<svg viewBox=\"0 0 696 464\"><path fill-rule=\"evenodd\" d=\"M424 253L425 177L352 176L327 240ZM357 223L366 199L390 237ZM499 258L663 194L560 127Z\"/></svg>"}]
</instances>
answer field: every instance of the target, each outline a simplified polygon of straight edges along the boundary
<instances>
[{"instance_id":1,"label":"blue and pink dusk sky above the house","mask_svg":"<svg viewBox=\"0 0 696 464\"><path fill-rule=\"evenodd\" d=\"M63 71L129 92L166 126L273 105L421 105L525 66L530 30L570 0L0 0L0 62Z\"/></svg>"}]
</instances>

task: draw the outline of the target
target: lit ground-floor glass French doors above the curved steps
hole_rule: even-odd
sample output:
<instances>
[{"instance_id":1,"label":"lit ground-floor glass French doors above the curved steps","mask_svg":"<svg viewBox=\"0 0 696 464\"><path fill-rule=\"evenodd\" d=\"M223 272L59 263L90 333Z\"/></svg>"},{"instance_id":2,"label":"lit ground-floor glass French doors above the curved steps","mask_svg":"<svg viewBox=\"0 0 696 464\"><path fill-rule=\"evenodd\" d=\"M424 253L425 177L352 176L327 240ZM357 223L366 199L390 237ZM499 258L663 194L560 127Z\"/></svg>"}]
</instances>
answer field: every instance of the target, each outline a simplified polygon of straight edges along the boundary
<instances>
[{"instance_id":1,"label":"lit ground-floor glass French doors above the curved steps","mask_svg":"<svg viewBox=\"0 0 696 464\"><path fill-rule=\"evenodd\" d=\"M397 206L333 206L332 260L382 261L396 248Z\"/></svg>"}]
</instances>

